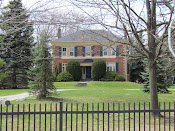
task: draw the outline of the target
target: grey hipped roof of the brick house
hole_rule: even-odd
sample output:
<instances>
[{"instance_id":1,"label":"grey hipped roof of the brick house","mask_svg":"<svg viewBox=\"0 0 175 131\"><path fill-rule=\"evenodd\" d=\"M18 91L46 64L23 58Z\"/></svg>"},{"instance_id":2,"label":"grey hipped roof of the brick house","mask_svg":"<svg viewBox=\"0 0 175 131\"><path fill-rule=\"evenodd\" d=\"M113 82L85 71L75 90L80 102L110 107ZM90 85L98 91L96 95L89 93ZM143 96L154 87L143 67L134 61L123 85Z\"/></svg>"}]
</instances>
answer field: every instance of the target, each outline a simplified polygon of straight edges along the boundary
<instances>
[{"instance_id":1,"label":"grey hipped roof of the brick house","mask_svg":"<svg viewBox=\"0 0 175 131\"><path fill-rule=\"evenodd\" d=\"M105 30L80 30L52 42L116 41L116 35Z\"/></svg>"}]
</instances>

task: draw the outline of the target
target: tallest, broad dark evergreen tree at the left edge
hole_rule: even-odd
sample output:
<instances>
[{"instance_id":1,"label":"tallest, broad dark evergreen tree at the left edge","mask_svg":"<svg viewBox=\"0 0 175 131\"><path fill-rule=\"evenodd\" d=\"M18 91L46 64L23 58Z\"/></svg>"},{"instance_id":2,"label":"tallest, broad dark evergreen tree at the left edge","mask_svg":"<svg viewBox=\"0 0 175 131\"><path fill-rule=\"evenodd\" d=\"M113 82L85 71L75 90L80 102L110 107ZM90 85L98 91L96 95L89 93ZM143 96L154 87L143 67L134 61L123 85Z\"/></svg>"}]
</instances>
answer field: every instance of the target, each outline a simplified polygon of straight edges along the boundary
<instances>
[{"instance_id":1,"label":"tallest, broad dark evergreen tree at the left edge","mask_svg":"<svg viewBox=\"0 0 175 131\"><path fill-rule=\"evenodd\" d=\"M3 31L0 57L5 61L4 71L9 75L2 83L9 88L24 88L28 85L27 72L32 64L33 27L21 0L10 1L5 9L1 14L4 22L0 26Z\"/></svg>"}]
</instances>

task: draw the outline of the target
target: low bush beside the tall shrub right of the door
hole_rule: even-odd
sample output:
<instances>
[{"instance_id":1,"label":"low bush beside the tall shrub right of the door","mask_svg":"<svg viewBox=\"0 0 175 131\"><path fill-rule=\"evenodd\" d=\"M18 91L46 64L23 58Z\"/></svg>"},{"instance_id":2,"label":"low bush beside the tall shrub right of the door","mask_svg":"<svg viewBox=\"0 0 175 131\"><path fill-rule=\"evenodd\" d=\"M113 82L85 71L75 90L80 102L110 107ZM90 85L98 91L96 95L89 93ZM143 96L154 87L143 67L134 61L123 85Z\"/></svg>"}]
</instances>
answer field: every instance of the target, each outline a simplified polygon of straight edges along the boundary
<instances>
[{"instance_id":1,"label":"low bush beside the tall shrub right of the door","mask_svg":"<svg viewBox=\"0 0 175 131\"><path fill-rule=\"evenodd\" d=\"M101 78L101 81L114 81L115 77L117 76L117 72L115 71L109 71L106 72L103 78Z\"/></svg>"}]
</instances>

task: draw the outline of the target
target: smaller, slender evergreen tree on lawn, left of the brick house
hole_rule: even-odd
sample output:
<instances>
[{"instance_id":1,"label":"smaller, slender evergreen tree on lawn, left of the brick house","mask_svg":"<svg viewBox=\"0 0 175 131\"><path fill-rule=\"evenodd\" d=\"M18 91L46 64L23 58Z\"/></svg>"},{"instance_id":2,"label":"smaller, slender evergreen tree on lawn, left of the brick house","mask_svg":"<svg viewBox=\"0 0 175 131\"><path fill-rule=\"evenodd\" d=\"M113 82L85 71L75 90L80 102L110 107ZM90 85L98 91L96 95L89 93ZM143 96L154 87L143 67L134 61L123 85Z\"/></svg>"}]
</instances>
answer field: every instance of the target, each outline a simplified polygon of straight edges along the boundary
<instances>
[{"instance_id":1,"label":"smaller, slender evergreen tree on lawn, left of the brick house","mask_svg":"<svg viewBox=\"0 0 175 131\"><path fill-rule=\"evenodd\" d=\"M40 35L40 42L33 51L34 66L29 74L33 76L30 81L31 89L38 93L38 99L44 99L54 91L54 77L52 73L52 57L47 43L49 36L45 33Z\"/></svg>"}]
</instances>

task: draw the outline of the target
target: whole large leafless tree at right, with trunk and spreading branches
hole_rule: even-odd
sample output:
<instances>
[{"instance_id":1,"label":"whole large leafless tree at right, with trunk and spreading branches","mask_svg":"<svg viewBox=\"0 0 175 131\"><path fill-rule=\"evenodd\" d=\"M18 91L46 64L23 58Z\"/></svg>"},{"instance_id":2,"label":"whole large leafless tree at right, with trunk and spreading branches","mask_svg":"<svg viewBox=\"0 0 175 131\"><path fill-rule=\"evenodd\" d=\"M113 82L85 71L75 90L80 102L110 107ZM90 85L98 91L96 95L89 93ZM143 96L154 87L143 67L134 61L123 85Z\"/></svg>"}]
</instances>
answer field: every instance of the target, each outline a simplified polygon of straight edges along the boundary
<instances>
[{"instance_id":1,"label":"whole large leafless tree at right, with trunk and spreading branches","mask_svg":"<svg viewBox=\"0 0 175 131\"><path fill-rule=\"evenodd\" d=\"M157 62L166 55L172 0L69 0L94 23L113 33L124 32L139 57L148 59L151 108L158 109ZM91 11L94 12L91 12ZM143 38L139 37L143 34ZM131 35L132 34L132 35ZM144 40L142 40L144 39ZM117 41L116 41L117 42ZM165 49L166 48L166 49Z\"/></svg>"}]
</instances>

